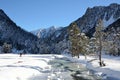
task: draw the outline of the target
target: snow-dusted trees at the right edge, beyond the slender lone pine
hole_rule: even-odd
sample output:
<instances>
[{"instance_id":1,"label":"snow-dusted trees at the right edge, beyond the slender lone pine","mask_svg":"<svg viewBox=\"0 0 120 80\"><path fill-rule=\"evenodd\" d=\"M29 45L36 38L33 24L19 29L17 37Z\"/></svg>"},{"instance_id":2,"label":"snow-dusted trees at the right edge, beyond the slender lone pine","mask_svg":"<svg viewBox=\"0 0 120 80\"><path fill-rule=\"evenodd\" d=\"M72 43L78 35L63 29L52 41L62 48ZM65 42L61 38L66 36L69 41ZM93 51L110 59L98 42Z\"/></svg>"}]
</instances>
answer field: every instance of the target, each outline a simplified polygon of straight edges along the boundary
<instances>
[{"instance_id":1,"label":"snow-dusted trees at the right edge, beyond the slender lone pine","mask_svg":"<svg viewBox=\"0 0 120 80\"><path fill-rule=\"evenodd\" d=\"M104 39L104 50L105 53L119 56L120 55L120 28L111 27L106 32Z\"/></svg>"}]
</instances>

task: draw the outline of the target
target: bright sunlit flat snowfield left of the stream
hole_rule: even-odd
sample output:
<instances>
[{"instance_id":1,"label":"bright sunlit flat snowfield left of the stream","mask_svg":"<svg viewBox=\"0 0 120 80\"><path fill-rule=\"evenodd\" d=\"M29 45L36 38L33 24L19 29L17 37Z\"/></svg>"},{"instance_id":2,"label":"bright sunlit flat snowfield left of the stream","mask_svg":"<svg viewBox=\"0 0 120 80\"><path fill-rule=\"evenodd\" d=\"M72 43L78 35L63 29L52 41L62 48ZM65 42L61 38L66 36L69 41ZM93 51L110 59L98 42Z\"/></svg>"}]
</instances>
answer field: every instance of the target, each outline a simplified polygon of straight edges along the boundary
<instances>
[{"instance_id":1,"label":"bright sunlit flat snowfield left of the stream","mask_svg":"<svg viewBox=\"0 0 120 80\"><path fill-rule=\"evenodd\" d=\"M47 64L52 55L0 54L0 80L28 80L51 69Z\"/></svg>"}]
</instances>

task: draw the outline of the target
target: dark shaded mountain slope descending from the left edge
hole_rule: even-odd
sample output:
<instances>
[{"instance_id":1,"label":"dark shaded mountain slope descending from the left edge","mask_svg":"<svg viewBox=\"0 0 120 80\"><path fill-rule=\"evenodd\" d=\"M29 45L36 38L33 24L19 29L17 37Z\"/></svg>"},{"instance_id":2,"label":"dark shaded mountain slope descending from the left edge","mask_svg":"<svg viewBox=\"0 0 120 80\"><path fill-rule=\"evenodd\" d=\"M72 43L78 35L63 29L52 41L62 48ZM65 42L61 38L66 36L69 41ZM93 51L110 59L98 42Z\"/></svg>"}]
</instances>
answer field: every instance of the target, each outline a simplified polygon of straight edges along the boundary
<instances>
[{"instance_id":1,"label":"dark shaded mountain slope descending from the left edge","mask_svg":"<svg viewBox=\"0 0 120 80\"><path fill-rule=\"evenodd\" d=\"M37 37L17 26L5 13L0 9L0 45L3 43L12 44L17 50L33 52L33 46ZM34 50L34 49L33 49Z\"/></svg>"}]
</instances>

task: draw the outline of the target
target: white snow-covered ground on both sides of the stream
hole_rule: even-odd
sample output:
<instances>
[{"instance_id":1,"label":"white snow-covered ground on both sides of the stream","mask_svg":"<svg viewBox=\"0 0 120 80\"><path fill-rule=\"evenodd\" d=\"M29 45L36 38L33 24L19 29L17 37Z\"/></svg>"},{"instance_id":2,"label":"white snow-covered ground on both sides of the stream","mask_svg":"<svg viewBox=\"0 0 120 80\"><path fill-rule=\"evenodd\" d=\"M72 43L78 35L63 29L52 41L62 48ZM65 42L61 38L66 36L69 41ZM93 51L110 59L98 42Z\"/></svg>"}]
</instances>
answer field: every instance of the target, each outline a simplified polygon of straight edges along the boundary
<instances>
[{"instance_id":1,"label":"white snow-covered ground on both sides of the stream","mask_svg":"<svg viewBox=\"0 0 120 80\"><path fill-rule=\"evenodd\" d=\"M93 56L89 56L87 60L84 56L80 56L80 59L68 58L82 63L88 69L93 70L95 75L103 76L103 79L108 77L107 80L120 80L120 57L104 55L102 59L106 64L105 67L99 67L98 60L91 61L96 59ZM48 62L52 59L54 59L53 55L27 54L19 57L18 54L0 54L0 80L43 80L42 72L51 69ZM39 76L39 79L32 79L33 76Z\"/></svg>"}]
</instances>

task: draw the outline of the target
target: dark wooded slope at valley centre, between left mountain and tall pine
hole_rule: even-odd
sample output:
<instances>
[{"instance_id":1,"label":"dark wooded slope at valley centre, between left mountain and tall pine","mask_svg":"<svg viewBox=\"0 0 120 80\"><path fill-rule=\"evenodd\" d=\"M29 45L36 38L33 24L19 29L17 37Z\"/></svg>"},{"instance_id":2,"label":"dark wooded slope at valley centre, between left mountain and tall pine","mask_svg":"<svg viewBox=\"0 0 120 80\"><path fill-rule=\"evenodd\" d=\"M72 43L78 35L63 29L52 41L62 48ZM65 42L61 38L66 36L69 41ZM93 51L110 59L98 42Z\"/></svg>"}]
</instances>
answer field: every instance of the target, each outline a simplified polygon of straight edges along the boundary
<instances>
[{"instance_id":1,"label":"dark wooded slope at valley centre, between left mountain and tall pine","mask_svg":"<svg viewBox=\"0 0 120 80\"><path fill-rule=\"evenodd\" d=\"M60 54L63 53L65 49L68 48L68 40L67 40L67 27L62 27L59 29L49 28L45 33L45 36L39 38L37 42L38 53L40 54ZM47 35L47 36L46 36Z\"/></svg>"}]
</instances>

